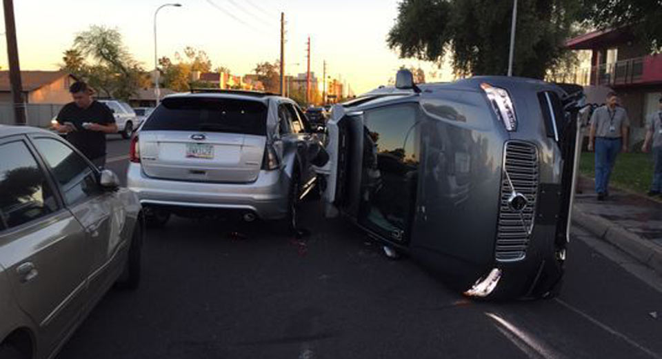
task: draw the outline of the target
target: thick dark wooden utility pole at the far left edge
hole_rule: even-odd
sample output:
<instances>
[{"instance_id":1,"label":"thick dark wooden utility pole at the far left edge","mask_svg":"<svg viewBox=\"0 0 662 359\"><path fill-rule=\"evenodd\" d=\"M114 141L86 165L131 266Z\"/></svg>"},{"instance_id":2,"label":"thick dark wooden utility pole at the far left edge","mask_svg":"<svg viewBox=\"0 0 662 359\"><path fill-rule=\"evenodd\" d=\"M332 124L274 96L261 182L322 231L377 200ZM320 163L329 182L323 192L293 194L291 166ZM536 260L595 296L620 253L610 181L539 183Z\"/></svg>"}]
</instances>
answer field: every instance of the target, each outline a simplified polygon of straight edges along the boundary
<instances>
[{"instance_id":1,"label":"thick dark wooden utility pole at the far left edge","mask_svg":"<svg viewBox=\"0 0 662 359\"><path fill-rule=\"evenodd\" d=\"M7 35L9 81L12 86L12 99L14 102L14 123L18 126L25 126L27 124L26 106L23 104L19 46L16 43L16 23L14 21L14 2L12 0L3 0L3 7L5 11L5 33Z\"/></svg>"}]
</instances>

